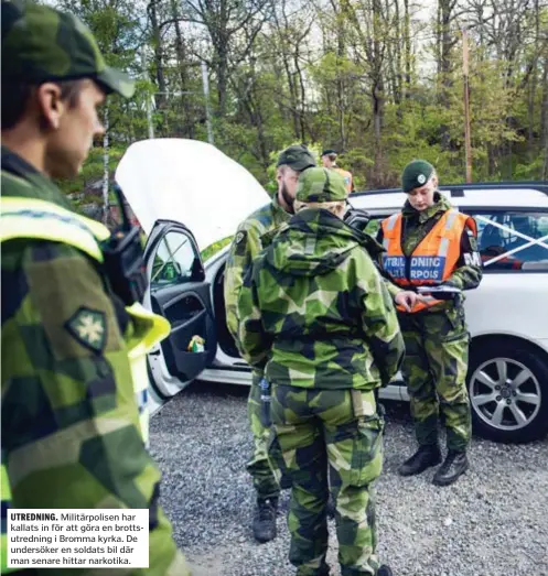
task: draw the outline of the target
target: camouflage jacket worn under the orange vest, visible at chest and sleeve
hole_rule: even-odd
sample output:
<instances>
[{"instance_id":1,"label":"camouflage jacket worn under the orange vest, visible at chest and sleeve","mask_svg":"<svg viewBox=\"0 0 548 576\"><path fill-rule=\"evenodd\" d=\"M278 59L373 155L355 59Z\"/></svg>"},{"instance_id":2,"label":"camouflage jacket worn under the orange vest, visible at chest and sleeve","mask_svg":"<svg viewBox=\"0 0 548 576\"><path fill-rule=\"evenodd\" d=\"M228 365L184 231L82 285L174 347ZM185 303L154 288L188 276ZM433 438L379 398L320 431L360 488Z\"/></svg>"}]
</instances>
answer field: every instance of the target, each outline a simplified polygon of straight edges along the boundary
<instances>
[{"instance_id":1,"label":"camouflage jacket worn under the orange vest, visible at chest and sleeve","mask_svg":"<svg viewBox=\"0 0 548 576\"><path fill-rule=\"evenodd\" d=\"M419 246L423 238L430 232L438 220L447 210L452 208L451 203L442 194L436 193L436 203L430 208L418 211L409 202L406 202L401 214L404 222L401 227L401 249L404 254L409 257L413 250ZM383 243L383 228L379 229L377 240ZM474 232L470 229L461 237L461 257L456 263L451 278L444 282L461 290L472 290L480 285L483 271L480 254L477 253L477 239ZM391 282L388 281L389 284ZM400 287L391 284L389 286L390 294L394 296L401 291ZM440 307L447 307L448 303L443 303ZM438 306L436 306L438 307Z\"/></svg>"}]
</instances>

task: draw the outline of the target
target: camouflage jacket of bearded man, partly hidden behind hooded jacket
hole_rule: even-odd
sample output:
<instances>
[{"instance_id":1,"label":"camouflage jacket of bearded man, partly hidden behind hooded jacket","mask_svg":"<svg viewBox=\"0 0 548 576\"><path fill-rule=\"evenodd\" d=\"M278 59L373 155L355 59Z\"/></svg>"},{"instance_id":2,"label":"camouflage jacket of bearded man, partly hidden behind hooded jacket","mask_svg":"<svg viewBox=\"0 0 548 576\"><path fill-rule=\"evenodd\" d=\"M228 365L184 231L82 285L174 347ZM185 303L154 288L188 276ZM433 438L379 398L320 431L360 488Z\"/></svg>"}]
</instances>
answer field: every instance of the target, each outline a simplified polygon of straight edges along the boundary
<instances>
[{"instance_id":1,"label":"camouflage jacket of bearded man, partly hidden behind hooded jacket","mask_svg":"<svg viewBox=\"0 0 548 576\"><path fill-rule=\"evenodd\" d=\"M238 227L230 246L225 269L225 306L228 330L238 344L238 297L244 276L254 259L264 248L264 236L277 230L291 217L277 202L262 206L248 216Z\"/></svg>"}]
</instances>

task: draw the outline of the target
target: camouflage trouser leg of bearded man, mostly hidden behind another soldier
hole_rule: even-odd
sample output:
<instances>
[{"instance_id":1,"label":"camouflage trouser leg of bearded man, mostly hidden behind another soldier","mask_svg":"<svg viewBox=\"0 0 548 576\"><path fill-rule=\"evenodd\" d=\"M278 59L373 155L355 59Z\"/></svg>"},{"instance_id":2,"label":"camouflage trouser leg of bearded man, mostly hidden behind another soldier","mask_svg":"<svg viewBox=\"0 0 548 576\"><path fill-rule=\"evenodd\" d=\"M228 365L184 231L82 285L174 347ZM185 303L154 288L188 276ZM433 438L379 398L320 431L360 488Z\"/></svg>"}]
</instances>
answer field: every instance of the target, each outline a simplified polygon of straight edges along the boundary
<instances>
[{"instance_id":1,"label":"camouflage trouser leg of bearded man, mostly hidden behind another soldier","mask_svg":"<svg viewBox=\"0 0 548 576\"><path fill-rule=\"evenodd\" d=\"M272 466L268 457L268 439L270 428L266 428L260 419L261 400L259 382L262 372L254 370L251 390L247 400L247 415L249 427L254 436L254 453L251 459L247 463L247 471L250 474L257 498L266 500L267 498L278 498L280 496L280 485L275 477Z\"/></svg>"}]
</instances>

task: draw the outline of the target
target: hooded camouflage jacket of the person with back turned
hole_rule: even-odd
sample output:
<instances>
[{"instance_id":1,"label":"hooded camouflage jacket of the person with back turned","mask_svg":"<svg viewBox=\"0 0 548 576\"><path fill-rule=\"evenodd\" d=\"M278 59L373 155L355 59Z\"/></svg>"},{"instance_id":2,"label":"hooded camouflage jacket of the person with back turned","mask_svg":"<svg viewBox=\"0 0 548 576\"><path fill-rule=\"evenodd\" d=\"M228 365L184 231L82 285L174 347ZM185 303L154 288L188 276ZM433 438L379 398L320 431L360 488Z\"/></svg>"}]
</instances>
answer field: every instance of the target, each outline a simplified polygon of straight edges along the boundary
<instances>
[{"instance_id":1,"label":"hooded camouflage jacket of the person with back turned","mask_svg":"<svg viewBox=\"0 0 548 576\"><path fill-rule=\"evenodd\" d=\"M362 235L307 209L255 260L238 301L239 339L271 382L372 390L404 357L391 298Z\"/></svg>"}]
</instances>

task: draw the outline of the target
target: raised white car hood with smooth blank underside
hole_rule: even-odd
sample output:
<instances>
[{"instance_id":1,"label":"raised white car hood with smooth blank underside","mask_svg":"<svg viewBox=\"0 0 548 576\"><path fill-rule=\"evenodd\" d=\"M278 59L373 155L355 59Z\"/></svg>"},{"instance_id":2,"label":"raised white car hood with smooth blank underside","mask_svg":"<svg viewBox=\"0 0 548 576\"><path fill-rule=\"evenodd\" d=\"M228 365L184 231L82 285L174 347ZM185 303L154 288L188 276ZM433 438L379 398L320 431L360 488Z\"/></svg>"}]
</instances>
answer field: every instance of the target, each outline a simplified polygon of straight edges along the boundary
<instances>
[{"instance_id":1,"label":"raised white car hood with smooth blank underside","mask_svg":"<svg viewBox=\"0 0 548 576\"><path fill-rule=\"evenodd\" d=\"M234 235L269 200L244 166L197 140L136 142L115 177L147 235L159 219L178 221L192 231L200 250Z\"/></svg>"}]
</instances>

